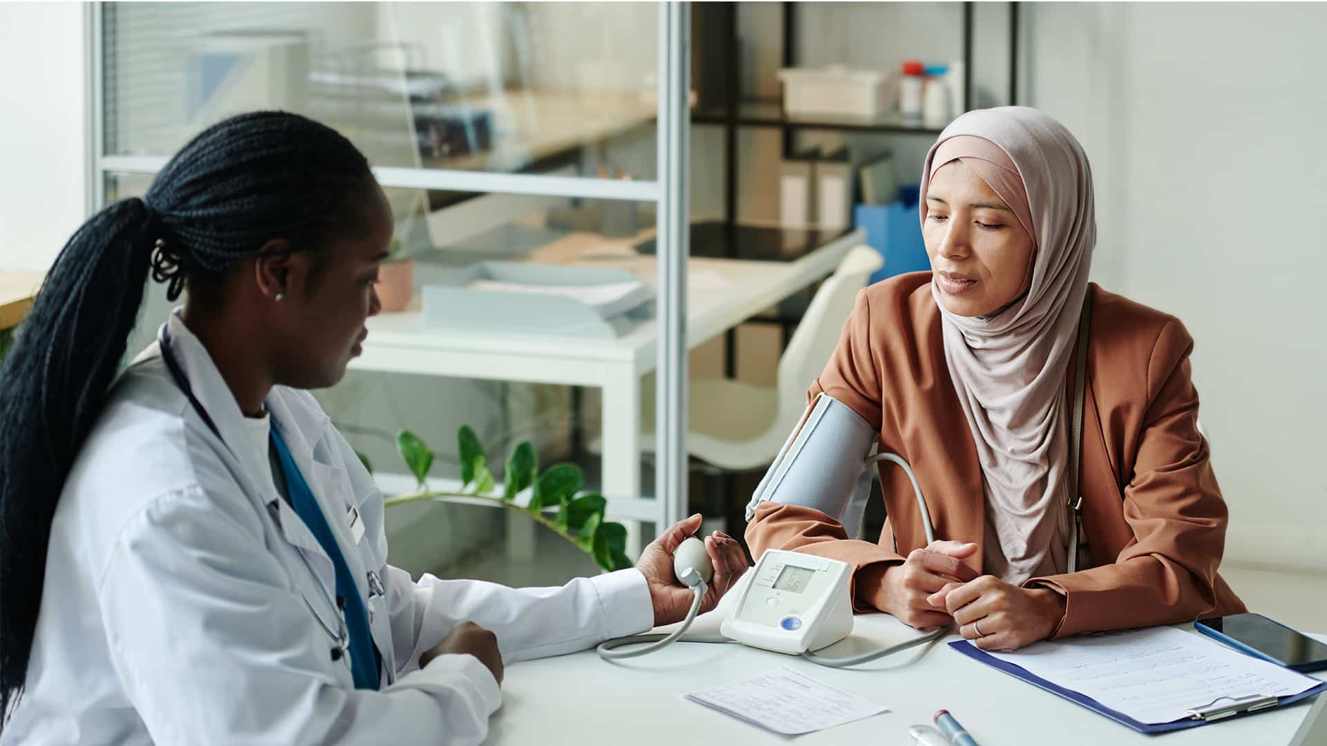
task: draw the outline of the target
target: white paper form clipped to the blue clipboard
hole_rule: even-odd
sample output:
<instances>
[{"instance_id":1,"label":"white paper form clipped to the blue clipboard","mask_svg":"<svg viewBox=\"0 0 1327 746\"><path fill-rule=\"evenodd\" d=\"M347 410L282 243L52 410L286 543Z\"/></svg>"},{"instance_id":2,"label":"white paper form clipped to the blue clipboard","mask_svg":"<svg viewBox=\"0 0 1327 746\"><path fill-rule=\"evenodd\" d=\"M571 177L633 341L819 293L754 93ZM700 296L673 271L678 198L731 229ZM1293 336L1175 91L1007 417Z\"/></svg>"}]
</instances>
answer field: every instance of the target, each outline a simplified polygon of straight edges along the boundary
<instances>
[{"instance_id":1,"label":"white paper form clipped to the blue clipboard","mask_svg":"<svg viewBox=\"0 0 1327 746\"><path fill-rule=\"evenodd\" d=\"M1034 642L1014 653L990 654L1144 723L1188 718L1188 710L1218 697L1286 697L1320 684L1170 627Z\"/></svg>"}]
</instances>

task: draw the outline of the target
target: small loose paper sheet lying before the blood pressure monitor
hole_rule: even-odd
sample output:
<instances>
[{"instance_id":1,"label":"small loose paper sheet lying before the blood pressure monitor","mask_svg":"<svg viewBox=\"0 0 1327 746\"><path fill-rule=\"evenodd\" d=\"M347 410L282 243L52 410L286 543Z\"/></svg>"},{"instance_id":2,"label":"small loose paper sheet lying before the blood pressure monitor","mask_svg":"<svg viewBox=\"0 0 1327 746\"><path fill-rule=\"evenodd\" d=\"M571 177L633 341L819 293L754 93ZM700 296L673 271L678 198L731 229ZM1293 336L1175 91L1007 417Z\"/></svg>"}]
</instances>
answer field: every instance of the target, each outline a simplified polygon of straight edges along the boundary
<instances>
[{"instance_id":1,"label":"small loose paper sheet lying before the blood pressure monitor","mask_svg":"<svg viewBox=\"0 0 1327 746\"><path fill-rule=\"evenodd\" d=\"M784 735L824 730L889 711L889 708L840 692L788 666L693 692L686 698Z\"/></svg>"}]
</instances>

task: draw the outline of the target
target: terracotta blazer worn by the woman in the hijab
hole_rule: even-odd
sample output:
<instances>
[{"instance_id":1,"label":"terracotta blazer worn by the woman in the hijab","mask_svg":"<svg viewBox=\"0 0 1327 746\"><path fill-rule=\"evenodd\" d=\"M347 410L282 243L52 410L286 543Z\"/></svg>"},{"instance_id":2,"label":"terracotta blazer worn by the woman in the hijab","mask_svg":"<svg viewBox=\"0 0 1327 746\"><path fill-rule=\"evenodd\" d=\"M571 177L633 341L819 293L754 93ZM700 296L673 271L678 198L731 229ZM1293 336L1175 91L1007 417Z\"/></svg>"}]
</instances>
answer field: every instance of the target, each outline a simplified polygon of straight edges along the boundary
<instances>
[{"instance_id":1,"label":"terracotta blazer worn by the woman in the hijab","mask_svg":"<svg viewBox=\"0 0 1327 746\"><path fill-rule=\"evenodd\" d=\"M1066 595L1052 637L1242 612L1243 604L1217 575L1226 503L1197 430L1198 393L1189 376L1193 338L1173 316L1095 284L1088 292L1093 307L1080 490L1092 567L1024 585ZM1067 389L1072 358L1070 365ZM880 449L912 465L936 536L977 543L977 554L965 561L981 572L982 471L945 362L930 272L900 275L857 295L808 401L820 392L878 427ZM817 510L766 502L747 526L752 555L774 547L848 561L855 568L855 607L873 611L881 573L863 569L902 563L909 551L926 546L902 470L881 462L880 482L888 520L878 544L848 539L837 520ZM872 579L877 587L868 587Z\"/></svg>"}]
</instances>

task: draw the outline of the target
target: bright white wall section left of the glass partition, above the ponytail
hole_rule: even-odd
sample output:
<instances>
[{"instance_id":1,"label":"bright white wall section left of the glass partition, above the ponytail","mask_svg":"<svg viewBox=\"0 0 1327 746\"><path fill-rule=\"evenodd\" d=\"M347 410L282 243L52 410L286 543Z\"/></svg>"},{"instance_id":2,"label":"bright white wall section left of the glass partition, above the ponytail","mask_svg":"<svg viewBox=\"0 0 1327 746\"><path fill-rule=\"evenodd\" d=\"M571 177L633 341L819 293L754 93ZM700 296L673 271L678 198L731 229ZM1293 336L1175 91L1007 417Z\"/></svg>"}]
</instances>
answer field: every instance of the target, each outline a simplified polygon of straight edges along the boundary
<instances>
[{"instance_id":1,"label":"bright white wall section left of the glass partition, above the ponytail","mask_svg":"<svg viewBox=\"0 0 1327 746\"><path fill-rule=\"evenodd\" d=\"M84 220L82 17L0 3L0 269L45 271Z\"/></svg>"}]
</instances>

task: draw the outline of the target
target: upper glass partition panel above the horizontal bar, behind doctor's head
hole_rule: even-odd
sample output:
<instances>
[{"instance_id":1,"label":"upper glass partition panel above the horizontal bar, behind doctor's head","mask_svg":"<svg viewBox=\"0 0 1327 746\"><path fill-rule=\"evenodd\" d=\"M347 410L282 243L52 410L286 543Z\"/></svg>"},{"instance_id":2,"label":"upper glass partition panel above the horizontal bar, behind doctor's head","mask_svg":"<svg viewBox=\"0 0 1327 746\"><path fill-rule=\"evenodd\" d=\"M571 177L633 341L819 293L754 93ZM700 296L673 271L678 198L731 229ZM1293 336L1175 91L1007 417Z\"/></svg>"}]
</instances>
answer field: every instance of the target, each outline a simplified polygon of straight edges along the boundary
<instances>
[{"instance_id":1,"label":"upper glass partition panel above the horizontal bar, behind doctor's head","mask_svg":"<svg viewBox=\"0 0 1327 746\"><path fill-rule=\"evenodd\" d=\"M106 4L106 153L307 114L377 166L656 175L652 3Z\"/></svg>"}]
</instances>

